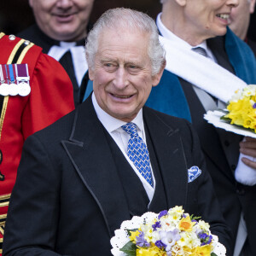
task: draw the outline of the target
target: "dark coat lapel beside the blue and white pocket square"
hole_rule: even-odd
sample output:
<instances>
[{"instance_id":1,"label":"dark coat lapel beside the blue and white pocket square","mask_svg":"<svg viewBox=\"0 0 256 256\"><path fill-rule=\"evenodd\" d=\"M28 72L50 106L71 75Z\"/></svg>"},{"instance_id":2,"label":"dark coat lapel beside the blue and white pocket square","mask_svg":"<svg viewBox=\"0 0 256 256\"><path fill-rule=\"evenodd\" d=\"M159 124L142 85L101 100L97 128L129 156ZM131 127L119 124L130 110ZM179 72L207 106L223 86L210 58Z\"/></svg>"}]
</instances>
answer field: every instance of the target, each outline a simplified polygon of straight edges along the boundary
<instances>
[{"instance_id":1,"label":"dark coat lapel beside the blue and white pocket square","mask_svg":"<svg viewBox=\"0 0 256 256\"><path fill-rule=\"evenodd\" d=\"M159 163L166 190L167 206L169 208L185 206L188 190L188 166L183 153L180 133L177 129L166 125L156 113L148 108L143 108L143 118Z\"/></svg>"}]
</instances>

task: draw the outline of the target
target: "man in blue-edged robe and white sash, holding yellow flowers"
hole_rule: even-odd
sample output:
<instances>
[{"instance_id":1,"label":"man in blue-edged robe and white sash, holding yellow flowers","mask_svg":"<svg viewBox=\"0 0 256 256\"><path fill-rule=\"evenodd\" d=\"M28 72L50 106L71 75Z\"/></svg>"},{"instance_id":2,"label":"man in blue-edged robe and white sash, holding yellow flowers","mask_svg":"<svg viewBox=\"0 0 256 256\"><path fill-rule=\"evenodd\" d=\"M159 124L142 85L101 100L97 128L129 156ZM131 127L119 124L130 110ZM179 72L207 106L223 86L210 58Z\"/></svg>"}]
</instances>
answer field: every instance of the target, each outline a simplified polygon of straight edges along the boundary
<instances>
[{"instance_id":1,"label":"man in blue-edged robe and white sash, holding yellow flowers","mask_svg":"<svg viewBox=\"0 0 256 256\"><path fill-rule=\"evenodd\" d=\"M256 84L253 51L227 27L238 0L161 3L156 23L166 49L166 69L146 106L188 119L195 126L221 210L234 236L233 248L237 237L236 253L243 247L248 255L256 255L256 186L250 177L241 183L234 175L241 170L237 163L256 169L249 157L238 160L240 152L255 157L255 140L241 142L240 136L216 129L203 119L208 110L225 108L235 90Z\"/></svg>"}]
</instances>

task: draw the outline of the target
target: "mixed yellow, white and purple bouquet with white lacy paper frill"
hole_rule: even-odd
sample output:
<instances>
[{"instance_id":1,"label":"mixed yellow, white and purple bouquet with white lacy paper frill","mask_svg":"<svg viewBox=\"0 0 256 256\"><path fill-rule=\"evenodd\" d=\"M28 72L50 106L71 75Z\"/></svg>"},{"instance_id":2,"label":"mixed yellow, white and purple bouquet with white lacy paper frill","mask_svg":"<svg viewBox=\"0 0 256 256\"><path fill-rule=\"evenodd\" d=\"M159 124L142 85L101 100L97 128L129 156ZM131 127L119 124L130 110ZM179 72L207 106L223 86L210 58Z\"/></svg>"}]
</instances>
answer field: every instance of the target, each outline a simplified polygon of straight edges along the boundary
<instances>
[{"instance_id":1,"label":"mixed yellow, white and purple bouquet with white lacy paper frill","mask_svg":"<svg viewBox=\"0 0 256 256\"><path fill-rule=\"evenodd\" d=\"M111 239L115 256L213 256L225 255L225 247L203 220L173 207L159 214L146 212L115 230Z\"/></svg>"}]
</instances>

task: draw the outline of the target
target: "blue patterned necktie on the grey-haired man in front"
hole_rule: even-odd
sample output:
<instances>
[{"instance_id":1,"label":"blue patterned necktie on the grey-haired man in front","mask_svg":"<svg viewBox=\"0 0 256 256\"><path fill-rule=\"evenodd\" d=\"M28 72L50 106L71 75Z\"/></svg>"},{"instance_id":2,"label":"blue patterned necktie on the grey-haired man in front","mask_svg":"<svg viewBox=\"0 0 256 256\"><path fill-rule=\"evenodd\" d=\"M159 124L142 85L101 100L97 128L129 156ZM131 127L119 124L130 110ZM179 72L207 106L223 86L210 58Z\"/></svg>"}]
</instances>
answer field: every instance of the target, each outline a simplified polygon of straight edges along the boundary
<instances>
[{"instance_id":1,"label":"blue patterned necktie on the grey-haired man in front","mask_svg":"<svg viewBox=\"0 0 256 256\"><path fill-rule=\"evenodd\" d=\"M135 124L127 123L126 125L122 125L122 128L130 135L127 150L130 160L132 160L134 165L137 167L137 170L153 187L147 145L143 142L143 139L138 136Z\"/></svg>"}]
</instances>

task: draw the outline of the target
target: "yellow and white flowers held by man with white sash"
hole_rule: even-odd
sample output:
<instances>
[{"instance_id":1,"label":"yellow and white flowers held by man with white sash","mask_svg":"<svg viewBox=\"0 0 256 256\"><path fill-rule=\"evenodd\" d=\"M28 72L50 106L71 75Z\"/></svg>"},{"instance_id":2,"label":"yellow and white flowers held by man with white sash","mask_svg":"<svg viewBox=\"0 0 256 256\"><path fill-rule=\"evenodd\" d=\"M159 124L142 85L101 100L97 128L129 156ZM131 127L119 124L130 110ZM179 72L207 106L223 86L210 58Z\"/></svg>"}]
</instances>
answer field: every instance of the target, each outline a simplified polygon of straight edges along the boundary
<instances>
[{"instance_id":1,"label":"yellow and white flowers held by man with white sash","mask_svg":"<svg viewBox=\"0 0 256 256\"><path fill-rule=\"evenodd\" d=\"M256 85L247 85L243 90L236 90L224 110L224 119L231 125L239 125L256 132Z\"/></svg>"}]
</instances>

